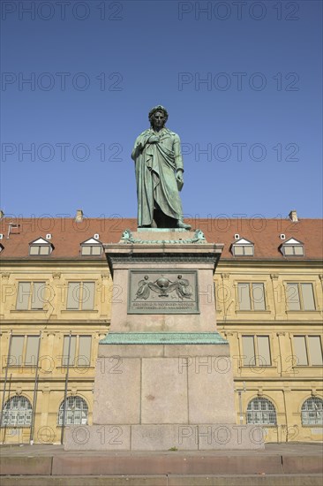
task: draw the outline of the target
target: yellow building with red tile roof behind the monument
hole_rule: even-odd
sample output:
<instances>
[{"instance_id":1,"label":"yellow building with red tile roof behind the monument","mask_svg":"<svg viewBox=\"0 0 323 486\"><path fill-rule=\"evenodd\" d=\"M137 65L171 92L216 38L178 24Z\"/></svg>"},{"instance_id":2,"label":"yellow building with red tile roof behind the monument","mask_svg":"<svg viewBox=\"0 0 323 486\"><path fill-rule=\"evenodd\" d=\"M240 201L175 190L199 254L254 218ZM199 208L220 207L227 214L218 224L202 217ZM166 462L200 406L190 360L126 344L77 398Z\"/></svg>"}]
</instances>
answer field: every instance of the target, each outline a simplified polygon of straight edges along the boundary
<instances>
[{"instance_id":1,"label":"yellow building with red tile roof behind the monument","mask_svg":"<svg viewBox=\"0 0 323 486\"><path fill-rule=\"evenodd\" d=\"M136 222L79 212L64 224L0 223L0 442L60 443L63 421L92 423L99 341L111 302L126 298L102 243ZM267 442L322 440L321 221L195 225L225 245L209 292L229 340L237 423L263 425ZM226 371L219 362L215 372Z\"/></svg>"}]
</instances>

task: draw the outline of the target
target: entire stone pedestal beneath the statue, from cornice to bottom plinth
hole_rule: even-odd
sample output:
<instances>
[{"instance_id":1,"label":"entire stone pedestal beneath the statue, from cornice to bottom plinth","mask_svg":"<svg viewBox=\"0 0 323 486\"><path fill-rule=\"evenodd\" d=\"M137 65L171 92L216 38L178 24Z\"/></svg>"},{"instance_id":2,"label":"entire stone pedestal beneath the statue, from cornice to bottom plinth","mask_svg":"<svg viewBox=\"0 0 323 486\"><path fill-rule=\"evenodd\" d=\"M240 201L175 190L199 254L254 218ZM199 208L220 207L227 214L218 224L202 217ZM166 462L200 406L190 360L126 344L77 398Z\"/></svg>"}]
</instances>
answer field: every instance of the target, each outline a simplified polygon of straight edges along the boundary
<instances>
[{"instance_id":1,"label":"entire stone pedestal beneath the statue, from cornice to bottom plinth","mask_svg":"<svg viewBox=\"0 0 323 486\"><path fill-rule=\"evenodd\" d=\"M201 232L124 232L105 246L114 281L101 340L94 426L66 429L65 449L255 449L236 425L229 343L216 331L214 271L222 245Z\"/></svg>"}]
</instances>

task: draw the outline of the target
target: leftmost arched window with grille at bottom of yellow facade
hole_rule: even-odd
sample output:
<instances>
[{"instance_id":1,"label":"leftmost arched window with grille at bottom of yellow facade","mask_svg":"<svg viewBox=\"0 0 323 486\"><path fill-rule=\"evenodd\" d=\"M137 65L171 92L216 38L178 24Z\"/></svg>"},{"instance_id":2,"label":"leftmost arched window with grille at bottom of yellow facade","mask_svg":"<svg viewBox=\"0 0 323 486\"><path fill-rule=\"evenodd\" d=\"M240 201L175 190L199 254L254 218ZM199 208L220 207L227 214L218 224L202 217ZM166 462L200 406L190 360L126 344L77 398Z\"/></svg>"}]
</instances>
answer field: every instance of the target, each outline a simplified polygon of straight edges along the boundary
<instances>
[{"instance_id":1,"label":"leftmost arched window with grille at bottom of yellow facade","mask_svg":"<svg viewBox=\"0 0 323 486\"><path fill-rule=\"evenodd\" d=\"M32 406L26 397L15 395L4 404L1 425L4 427L30 427Z\"/></svg>"}]
</instances>

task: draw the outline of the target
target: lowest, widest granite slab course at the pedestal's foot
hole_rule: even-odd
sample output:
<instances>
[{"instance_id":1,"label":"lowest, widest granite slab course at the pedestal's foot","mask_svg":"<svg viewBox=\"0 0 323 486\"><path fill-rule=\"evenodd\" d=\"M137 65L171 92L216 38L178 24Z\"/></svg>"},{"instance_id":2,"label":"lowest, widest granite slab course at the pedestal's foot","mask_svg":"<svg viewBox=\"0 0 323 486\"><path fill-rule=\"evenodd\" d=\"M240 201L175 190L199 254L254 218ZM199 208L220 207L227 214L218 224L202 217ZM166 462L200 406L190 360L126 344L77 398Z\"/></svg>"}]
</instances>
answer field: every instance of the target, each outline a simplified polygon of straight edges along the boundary
<instances>
[{"instance_id":1,"label":"lowest, widest granite slab course at the pedestal's foot","mask_svg":"<svg viewBox=\"0 0 323 486\"><path fill-rule=\"evenodd\" d=\"M264 449L256 425L79 425L66 428L65 451L219 451Z\"/></svg>"}]
</instances>

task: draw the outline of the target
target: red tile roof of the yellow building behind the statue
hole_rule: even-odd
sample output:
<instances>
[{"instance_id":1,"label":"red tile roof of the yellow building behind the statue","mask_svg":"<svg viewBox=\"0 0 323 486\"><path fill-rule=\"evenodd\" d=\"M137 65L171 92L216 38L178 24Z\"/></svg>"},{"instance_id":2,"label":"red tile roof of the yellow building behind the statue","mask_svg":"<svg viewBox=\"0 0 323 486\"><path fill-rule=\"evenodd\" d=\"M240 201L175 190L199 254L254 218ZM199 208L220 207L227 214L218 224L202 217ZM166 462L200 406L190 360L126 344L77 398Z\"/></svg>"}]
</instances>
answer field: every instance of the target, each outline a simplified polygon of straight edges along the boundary
<instances>
[{"instance_id":1,"label":"red tile roof of the yellow building behind the statue","mask_svg":"<svg viewBox=\"0 0 323 486\"><path fill-rule=\"evenodd\" d=\"M230 246L235 241L235 234L240 238L250 239L254 243L253 259L278 259L278 260L307 260L322 258L322 223L321 219L302 219L292 223L289 219L197 219L187 220L193 228L199 228L206 236L209 243L224 243L223 258L244 259L234 257L230 252ZM19 224L18 228L12 228L7 239L10 223ZM125 218L84 218L81 223L76 223L72 218L19 218L12 220L4 217L0 221L0 233L4 237L0 240L4 246L1 258L81 258L80 243L99 234L102 243L116 243L120 240L125 229L136 231L136 219ZM49 256L29 257L29 243L37 238L46 238L52 235L50 243L54 250ZM289 257L282 255L279 247L283 240L281 233L286 235L286 240L293 237L304 243L304 257ZM100 257L91 257L100 258ZM104 258L104 255L101 255Z\"/></svg>"}]
</instances>

